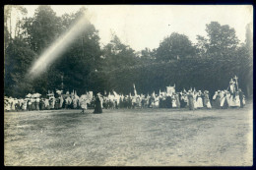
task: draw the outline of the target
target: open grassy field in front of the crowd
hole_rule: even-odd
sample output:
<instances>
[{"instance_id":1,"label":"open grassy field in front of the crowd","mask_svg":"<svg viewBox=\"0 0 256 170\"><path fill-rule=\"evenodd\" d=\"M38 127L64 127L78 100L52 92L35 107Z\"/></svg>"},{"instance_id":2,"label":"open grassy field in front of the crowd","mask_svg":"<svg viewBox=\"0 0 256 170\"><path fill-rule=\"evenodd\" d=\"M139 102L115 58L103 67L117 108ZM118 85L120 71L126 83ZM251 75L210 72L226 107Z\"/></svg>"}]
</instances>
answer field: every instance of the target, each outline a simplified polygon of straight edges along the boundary
<instances>
[{"instance_id":1,"label":"open grassy field in front of the crowd","mask_svg":"<svg viewBox=\"0 0 256 170\"><path fill-rule=\"evenodd\" d=\"M5 165L251 166L252 104L243 109L6 112Z\"/></svg>"}]
</instances>

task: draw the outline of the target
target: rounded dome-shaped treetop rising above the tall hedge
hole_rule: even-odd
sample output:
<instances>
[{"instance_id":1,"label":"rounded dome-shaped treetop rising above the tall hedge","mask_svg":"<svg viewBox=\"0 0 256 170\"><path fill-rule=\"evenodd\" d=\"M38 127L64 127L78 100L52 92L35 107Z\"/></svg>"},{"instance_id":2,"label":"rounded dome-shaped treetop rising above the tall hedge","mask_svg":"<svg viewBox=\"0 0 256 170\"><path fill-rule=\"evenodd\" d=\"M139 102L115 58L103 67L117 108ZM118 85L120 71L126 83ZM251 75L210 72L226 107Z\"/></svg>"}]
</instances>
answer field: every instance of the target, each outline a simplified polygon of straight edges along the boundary
<instances>
[{"instance_id":1,"label":"rounded dome-shaped treetop rising above the tall hedge","mask_svg":"<svg viewBox=\"0 0 256 170\"><path fill-rule=\"evenodd\" d=\"M171 33L168 37L160 42L157 49L157 60L169 61L183 59L195 55L195 48L192 42L184 34Z\"/></svg>"}]
</instances>

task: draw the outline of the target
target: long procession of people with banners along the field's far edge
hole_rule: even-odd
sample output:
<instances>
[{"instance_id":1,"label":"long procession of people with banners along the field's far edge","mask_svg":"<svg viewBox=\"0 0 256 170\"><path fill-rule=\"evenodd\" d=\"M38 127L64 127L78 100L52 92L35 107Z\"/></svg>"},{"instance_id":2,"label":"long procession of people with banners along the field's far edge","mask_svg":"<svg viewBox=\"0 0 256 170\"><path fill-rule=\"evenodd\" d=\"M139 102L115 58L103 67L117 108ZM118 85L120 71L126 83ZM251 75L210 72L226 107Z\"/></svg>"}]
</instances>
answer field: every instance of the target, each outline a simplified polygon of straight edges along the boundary
<instances>
[{"instance_id":1,"label":"long procession of people with banners along the field's far edge","mask_svg":"<svg viewBox=\"0 0 256 170\"><path fill-rule=\"evenodd\" d=\"M174 89L174 88L173 88ZM180 92L162 91L159 94L153 92L151 95L137 94L134 85L134 94L120 95L113 91L108 95L93 94L93 91L78 96L76 91L63 94L62 90L48 91L47 97L41 94L29 93L26 98L4 98L5 111L32 111L52 109L82 109L83 112L89 108L99 109L132 109L132 108L189 108L190 110L201 108L227 109L243 107L245 96L237 82L232 79L227 89L218 90L213 97L209 96L208 90L196 90L195 88ZM98 106L96 106L98 105ZM100 107L100 108L99 108ZM96 111L97 112L97 111Z\"/></svg>"}]
</instances>

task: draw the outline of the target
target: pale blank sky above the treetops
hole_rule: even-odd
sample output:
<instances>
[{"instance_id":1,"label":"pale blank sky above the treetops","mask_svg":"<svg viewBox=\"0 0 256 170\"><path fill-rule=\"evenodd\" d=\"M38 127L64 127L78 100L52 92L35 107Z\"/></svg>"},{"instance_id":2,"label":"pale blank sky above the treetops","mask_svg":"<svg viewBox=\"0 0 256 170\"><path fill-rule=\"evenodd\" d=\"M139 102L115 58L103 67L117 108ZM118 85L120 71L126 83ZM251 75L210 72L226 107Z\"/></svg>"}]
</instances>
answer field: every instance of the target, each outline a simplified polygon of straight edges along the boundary
<instances>
[{"instance_id":1,"label":"pale blank sky above the treetops","mask_svg":"<svg viewBox=\"0 0 256 170\"><path fill-rule=\"evenodd\" d=\"M24 5L32 17L37 5ZM75 13L82 5L51 5L57 16ZM136 51L158 48L160 41L172 32L185 34L196 43L196 35L206 36L206 25L219 22L234 28L240 42L245 40L245 27L253 21L249 5L84 5L100 37L106 45L114 32ZM14 12L15 13L15 12ZM21 17L14 14L16 17Z\"/></svg>"}]
</instances>

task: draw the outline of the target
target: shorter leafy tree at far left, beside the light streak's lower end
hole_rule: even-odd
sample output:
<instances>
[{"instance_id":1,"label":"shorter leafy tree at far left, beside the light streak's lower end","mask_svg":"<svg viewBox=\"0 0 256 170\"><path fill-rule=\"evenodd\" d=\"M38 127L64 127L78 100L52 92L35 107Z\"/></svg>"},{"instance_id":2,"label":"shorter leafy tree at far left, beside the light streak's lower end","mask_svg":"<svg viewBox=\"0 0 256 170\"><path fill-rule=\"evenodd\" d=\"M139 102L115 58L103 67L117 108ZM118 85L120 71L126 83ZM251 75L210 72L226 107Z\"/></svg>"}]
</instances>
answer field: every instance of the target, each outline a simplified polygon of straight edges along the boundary
<instances>
[{"instance_id":1,"label":"shorter leafy tree at far left, beside the light streak's lower end","mask_svg":"<svg viewBox=\"0 0 256 170\"><path fill-rule=\"evenodd\" d=\"M5 93L12 96L23 96L32 89L27 84L26 74L36 54L25 43L24 39L15 38L8 45L5 53Z\"/></svg>"}]
</instances>

